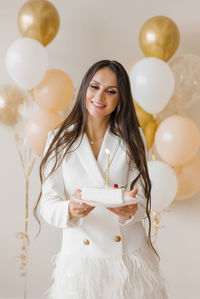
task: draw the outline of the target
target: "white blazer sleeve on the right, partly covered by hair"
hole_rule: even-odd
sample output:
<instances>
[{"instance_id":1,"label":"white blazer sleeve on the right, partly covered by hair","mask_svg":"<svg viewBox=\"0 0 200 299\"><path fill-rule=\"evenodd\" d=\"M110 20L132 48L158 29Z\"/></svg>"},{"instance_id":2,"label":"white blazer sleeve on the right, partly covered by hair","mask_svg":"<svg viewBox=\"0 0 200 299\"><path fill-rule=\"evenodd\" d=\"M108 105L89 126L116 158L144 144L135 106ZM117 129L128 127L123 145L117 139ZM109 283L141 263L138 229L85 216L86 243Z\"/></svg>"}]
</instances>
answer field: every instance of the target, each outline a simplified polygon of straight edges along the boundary
<instances>
[{"instance_id":1,"label":"white blazer sleeve on the right, partly covered by hair","mask_svg":"<svg viewBox=\"0 0 200 299\"><path fill-rule=\"evenodd\" d=\"M146 152L146 159L147 159L147 147L146 147L146 140L143 134L142 129L140 128L140 134L141 137L143 139L144 145L145 145L145 152ZM134 163L129 163L129 174L128 174L128 184L127 184L127 191L130 190L130 185L132 183L132 181L137 177L137 175L139 174L138 169L136 168L136 166L134 165ZM119 224L121 226L125 226L128 225L130 223L136 223L138 221L141 221L142 219L145 218L146 216L146 197L144 194L144 188L143 188L143 184L142 184L142 179L139 178L134 186L135 188L138 188L138 193L136 195L136 198L139 199L139 203L138 203L138 208L137 211L135 213L134 216L132 216L130 219L125 220L123 218L119 219Z\"/></svg>"}]
</instances>

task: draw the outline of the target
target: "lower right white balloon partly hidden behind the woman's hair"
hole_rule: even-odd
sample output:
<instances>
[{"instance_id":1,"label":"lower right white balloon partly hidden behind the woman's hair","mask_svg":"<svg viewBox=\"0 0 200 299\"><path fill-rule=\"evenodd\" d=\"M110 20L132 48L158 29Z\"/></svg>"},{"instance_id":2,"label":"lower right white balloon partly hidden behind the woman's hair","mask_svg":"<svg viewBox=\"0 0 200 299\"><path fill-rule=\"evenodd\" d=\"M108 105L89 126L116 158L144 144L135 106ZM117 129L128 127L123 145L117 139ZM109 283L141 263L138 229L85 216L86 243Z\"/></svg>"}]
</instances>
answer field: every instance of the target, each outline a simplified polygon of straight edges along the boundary
<instances>
[{"instance_id":1,"label":"lower right white balloon partly hidden behind the woman's hair","mask_svg":"<svg viewBox=\"0 0 200 299\"><path fill-rule=\"evenodd\" d=\"M159 212L168 207L176 196L176 175L170 166L161 161L149 161L148 171L152 183L151 209Z\"/></svg>"}]
</instances>

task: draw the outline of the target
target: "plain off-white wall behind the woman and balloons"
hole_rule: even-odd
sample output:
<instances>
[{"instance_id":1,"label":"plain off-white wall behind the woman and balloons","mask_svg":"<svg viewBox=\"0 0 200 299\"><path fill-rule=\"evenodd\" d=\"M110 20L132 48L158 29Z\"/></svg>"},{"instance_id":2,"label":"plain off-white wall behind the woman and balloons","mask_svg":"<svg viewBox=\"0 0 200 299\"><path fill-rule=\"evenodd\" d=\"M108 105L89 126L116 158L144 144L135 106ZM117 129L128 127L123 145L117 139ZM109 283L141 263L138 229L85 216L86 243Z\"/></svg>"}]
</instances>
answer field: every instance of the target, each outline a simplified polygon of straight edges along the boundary
<instances>
[{"instance_id":1,"label":"plain off-white wall behind the woman and balloons","mask_svg":"<svg viewBox=\"0 0 200 299\"><path fill-rule=\"evenodd\" d=\"M8 46L20 37L17 13L23 0L0 1L0 84L10 82L4 56ZM61 28L47 47L50 68L67 72L76 87L84 72L96 60L110 58L125 66L142 56L138 34L151 16L166 15L179 26L181 44L176 53L200 54L200 4L198 0L54 0ZM188 116L199 127L200 102ZM24 230L25 182L12 136L0 127L0 298L23 298L15 256L21 253L15 233ZM39 163L39 161L38 161ZM30 211L39 192L38 164L31 179ZM200 298L200 194L175 202L162 215L159 232L161 265L169 285L170 299ZM37 241L37 224L30 212L31 250L28 298L44 298L51 284L50 258L60 248L61 231L43 223ZM114 299L114 298L113 298ZM138 298L139 299L139 298Z\"/></svg>"}]
</instances>

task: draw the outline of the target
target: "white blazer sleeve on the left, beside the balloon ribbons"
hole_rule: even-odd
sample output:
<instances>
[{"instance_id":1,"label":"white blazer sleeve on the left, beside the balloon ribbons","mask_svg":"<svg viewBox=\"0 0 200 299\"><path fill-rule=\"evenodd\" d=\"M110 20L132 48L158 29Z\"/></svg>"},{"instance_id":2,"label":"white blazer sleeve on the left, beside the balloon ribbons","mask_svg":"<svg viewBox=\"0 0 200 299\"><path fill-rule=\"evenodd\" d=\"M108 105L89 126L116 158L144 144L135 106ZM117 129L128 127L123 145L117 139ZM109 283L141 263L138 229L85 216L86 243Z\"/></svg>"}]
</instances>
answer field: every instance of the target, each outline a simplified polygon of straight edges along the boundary
<instances>
[{"instance_id":1,"label":"white blazer sleeve on the left, beside the balloon ribbons","mask_svg":"<svg viewBox=\"0 0 200 299\"><path fill-rule=\"evenodd\" d=\"M53 131L48 134L44 154L51 141L53 140ZM51 172L55 160L52 159L47 162L44 177L46 178ZM63 173L62 173L62 163L61 165L50 175L42 184L42 196L39 204L39 211L41 217L50 225L57 228L68 228L73 226L80 226L82 219L73 218L70 220L69 216L69 195L66 194Z\"/></svg>"}]
</instances>

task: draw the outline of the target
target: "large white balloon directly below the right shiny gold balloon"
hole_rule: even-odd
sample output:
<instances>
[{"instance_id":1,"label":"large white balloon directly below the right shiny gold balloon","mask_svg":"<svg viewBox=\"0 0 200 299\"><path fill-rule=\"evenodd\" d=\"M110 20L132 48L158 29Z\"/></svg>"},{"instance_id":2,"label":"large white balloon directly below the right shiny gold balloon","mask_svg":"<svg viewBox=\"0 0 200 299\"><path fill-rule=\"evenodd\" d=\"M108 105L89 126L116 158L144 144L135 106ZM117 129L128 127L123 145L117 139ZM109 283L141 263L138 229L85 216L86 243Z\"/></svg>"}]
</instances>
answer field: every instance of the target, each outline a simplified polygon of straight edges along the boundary
<instances>
[{"instance_id":1,"label":"large white balloon directly below the right shiny gold balloon","mask_svg":"<svg viewBox=\"0 0 200 299\"><path fill-rule=\"evenodd\" d=\"M168 64L155 57L138 61L130 72L132 94L149 113L159 113L169 102L175 86L174 74Z\"/></svg>"}]
</instances>

